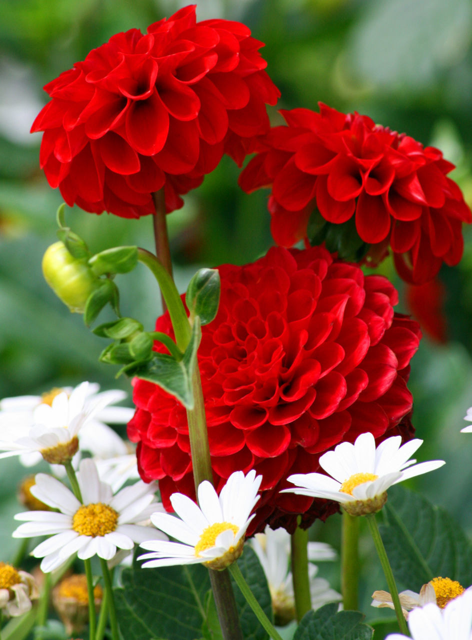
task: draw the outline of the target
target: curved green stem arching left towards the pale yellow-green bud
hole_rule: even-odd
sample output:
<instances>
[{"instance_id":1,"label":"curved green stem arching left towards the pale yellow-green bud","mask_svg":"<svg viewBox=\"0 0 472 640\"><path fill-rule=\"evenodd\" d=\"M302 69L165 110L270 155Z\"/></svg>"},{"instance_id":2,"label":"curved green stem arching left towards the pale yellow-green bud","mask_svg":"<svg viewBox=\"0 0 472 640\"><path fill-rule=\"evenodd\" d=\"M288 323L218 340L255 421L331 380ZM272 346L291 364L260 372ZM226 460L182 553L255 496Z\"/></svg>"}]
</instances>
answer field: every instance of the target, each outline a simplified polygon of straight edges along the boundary
<instances>
[{"instance_id":1,"label":"curved green stem arching left towards the pale yellow-green bud","mask_svg":"<svg viewBox=\"0 0 472 640\"><path fill-rule=\"evenodd\" d=\"M145 249L138 248L138 260L152 271L153 276L159 283L162 296L169 308L169 316L171 317L177 346L180 351L185 351L187 344L189 344L192 330L187 314L185 313L184 303L182 303L180 299L174 281L171 276L169 276L162 262L152 253Z\"/></svg>"}]
</instances>

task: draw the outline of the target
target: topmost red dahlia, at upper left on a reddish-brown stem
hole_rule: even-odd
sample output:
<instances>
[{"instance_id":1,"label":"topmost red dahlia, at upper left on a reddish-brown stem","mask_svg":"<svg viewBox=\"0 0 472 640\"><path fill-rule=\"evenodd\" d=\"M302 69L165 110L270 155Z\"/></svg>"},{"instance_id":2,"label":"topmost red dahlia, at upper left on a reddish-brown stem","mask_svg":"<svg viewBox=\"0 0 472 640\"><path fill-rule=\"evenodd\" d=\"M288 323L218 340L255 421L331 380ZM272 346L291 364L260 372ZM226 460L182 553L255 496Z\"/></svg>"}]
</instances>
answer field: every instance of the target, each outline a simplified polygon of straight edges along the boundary
<instances>
[{"instance_id":1,"label":"topmost red dahlia, at upper left on a reddish-brown stem","mask_svg":"<svg viewBox=\"0 0 472 640\"><path fill-rule=\"evenodd\" d=\"M67 204L123 218L167 211L198 186L223 152L242 163L269 129L265 103L279 92L262 42L239 22L196 22L195 6L118 33L46 84L52 100L31 131L44 131L40 164Z\"/></svg>"}]
</instances>

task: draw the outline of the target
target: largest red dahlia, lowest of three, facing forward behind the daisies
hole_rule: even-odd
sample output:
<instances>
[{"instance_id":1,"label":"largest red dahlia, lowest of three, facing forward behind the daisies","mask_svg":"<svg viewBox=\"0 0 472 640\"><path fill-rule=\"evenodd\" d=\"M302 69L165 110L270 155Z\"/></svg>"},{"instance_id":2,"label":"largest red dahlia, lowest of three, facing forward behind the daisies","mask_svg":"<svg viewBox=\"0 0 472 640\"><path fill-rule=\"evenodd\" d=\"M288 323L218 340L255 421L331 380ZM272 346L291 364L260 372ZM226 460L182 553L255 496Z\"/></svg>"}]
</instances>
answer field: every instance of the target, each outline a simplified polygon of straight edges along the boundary
<instances>
[{"instance_id":1,"label":"largest red dahlia, lowest of three, facing forward behind the daisies","mask_svg":"<svg viewBox=\"0 0 472 640\"><path fill-rule=\"evenodd\" d=\"M308 526L338 506L279 493L287 476L319 470L322 452L365 431L411 437L406 381L420 330L393 313L397 291L386 278L322 247L272 248L219 273L219 310L198 349L216 488L254 468L262 495L249 534L266 523L293 531L297 514ZM171 333L168 314L156 329ZM194 497L185 410L143 380L134 403L128 434L141 477L159 480L170 509L171 493Z\"/></svg>"}]
</instances>

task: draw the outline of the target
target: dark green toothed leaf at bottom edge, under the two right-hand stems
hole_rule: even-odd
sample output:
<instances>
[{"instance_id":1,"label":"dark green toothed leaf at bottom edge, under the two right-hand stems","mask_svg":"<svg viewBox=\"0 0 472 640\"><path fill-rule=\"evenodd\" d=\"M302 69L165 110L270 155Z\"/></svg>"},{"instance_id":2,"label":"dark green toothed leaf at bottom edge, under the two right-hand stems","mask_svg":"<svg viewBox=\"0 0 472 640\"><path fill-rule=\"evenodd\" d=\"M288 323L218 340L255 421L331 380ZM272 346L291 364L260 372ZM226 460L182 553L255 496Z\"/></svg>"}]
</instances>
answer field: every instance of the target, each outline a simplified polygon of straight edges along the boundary
<instances>
[{"instance_id":1,"label":"dark green toothed leaf at bottom edge, under the two right-hand stems","mask_svg":"<svg viewBox=\"0 0 472 640\"><path fill-rule=\"evenodd\" d=\"M359 611L340 611L334 602L309 611L295 631L294 640L371 640L374 630L363 623Z\"/></svg>"}]
</instances>

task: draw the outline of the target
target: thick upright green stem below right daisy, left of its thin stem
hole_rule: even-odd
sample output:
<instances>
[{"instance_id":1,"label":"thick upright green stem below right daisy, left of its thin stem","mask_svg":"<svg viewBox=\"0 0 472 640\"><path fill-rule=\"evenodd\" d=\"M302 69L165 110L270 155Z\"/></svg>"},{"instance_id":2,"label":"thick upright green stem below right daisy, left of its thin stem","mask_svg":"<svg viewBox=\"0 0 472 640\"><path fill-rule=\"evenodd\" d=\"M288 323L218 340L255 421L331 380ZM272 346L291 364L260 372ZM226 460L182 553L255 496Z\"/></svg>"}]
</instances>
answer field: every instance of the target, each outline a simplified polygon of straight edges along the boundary
<instances>
[{"instance_id":1,"label":"thick upright green stem below right daisy, left of its thin stem","mask_svg":"<svg viewBox=\"0 0 472 640\"><path fill-rule=\"evenodd\" d=\"M345 611L359 609L359 517L343 511L341 590Z\"/></svg>"}]
</instances>

